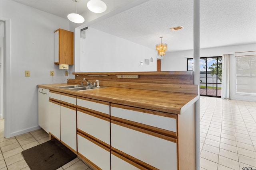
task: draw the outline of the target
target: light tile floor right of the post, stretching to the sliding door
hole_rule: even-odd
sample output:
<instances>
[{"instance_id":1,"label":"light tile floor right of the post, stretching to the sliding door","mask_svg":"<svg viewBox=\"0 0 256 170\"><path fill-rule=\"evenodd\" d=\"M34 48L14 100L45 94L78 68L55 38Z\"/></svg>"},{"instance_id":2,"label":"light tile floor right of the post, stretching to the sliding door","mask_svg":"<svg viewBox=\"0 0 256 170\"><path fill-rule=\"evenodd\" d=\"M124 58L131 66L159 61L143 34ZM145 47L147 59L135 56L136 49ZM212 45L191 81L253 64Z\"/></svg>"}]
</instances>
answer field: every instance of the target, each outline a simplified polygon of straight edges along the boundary
<instances>
[{"instance_id":1,"label":"light tile floor right of the post, stretching to the sliding door","mask_svg":"<svg viewBox=\"0 0 256 170\"><path fill-rule=\"evenodd\" d=\"M200 97L200 167L256 169L256 102Z\"/></svg>"}]
</instances>

